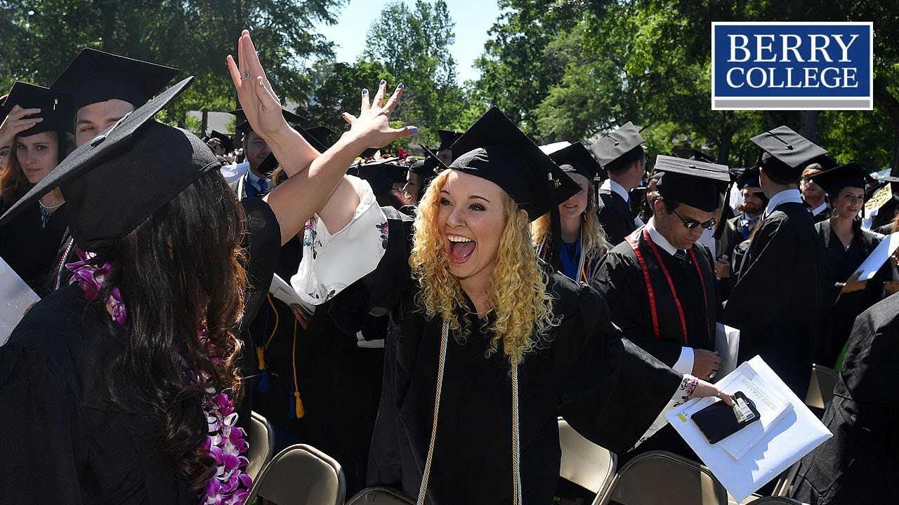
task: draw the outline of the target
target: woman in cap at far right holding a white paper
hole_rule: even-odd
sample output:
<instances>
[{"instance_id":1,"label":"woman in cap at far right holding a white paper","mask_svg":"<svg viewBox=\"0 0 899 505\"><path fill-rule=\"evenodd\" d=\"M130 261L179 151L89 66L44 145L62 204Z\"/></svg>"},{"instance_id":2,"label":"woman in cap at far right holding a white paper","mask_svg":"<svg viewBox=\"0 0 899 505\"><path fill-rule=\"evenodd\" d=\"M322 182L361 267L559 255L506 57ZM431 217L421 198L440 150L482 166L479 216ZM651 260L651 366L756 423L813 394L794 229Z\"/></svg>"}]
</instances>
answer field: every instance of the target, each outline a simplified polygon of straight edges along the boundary
<instances>
[{"instance_id":1,"label":"woman in cap at far right holding a white paper","mask_svg":"<svg viewBox=\"0 0 899 505\"><path fill-rule=\"evenodd\" d=\"M821 338L814 362L840 368L841 350L849 340L859 314L883 297L892 272L887 261L872 279L859 279L859 266L883 236L861 228L868 173L856 163L812 175L811 180L830 195L832 216L814 226L824 244L826 291Z\"/></svg>"}]
</instances>

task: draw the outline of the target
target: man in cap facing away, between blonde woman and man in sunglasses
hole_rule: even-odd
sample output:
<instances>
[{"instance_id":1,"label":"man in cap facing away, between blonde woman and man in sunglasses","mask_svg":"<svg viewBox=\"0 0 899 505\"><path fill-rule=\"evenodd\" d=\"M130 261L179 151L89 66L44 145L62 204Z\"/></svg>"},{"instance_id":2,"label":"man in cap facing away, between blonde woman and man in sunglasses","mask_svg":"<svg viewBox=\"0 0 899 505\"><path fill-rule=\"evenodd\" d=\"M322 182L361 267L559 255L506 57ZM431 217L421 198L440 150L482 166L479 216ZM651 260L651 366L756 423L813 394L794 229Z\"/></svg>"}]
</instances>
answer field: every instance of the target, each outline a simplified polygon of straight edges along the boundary
<instances>
[{"instance_id":1,"label":"man in cap facing away, between blonde woman and man in sunglasses","mask_svg":"<svg viewBox=\"0 0 899 505\"><path fill-rule=\"evenodd\" d=\"M646 173L643 137L628 121L597 140L591 150L609 178L602 182L596 200L602 229L611 244L620 244L637 227L630 208L630 191L640 185ZM643 223L641 222L640 225Z\"/></svg>"}]
</instances>

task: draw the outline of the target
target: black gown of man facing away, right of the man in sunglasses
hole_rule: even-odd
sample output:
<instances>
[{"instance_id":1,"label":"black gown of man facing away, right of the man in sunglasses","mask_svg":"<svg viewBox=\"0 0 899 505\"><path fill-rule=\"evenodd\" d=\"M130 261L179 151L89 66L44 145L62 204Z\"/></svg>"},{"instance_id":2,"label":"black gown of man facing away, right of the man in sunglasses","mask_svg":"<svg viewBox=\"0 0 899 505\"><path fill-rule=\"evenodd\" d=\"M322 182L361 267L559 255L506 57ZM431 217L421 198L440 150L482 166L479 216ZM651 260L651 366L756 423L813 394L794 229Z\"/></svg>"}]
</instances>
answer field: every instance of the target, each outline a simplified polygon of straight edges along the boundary
<instances>
[{"instance_id":1,"label":"black gown of man facing away, right of the man in sunglasses","mask_svg":"<svg viewBox=\"0 0 899 505\"><path fill-rule=\"evenodd\" d=\"M761 222L725 305L740 330L739 361L760 355L805 398L823 298L823 244L803 203L783 203Z\"/></svg>"}]
</instances>

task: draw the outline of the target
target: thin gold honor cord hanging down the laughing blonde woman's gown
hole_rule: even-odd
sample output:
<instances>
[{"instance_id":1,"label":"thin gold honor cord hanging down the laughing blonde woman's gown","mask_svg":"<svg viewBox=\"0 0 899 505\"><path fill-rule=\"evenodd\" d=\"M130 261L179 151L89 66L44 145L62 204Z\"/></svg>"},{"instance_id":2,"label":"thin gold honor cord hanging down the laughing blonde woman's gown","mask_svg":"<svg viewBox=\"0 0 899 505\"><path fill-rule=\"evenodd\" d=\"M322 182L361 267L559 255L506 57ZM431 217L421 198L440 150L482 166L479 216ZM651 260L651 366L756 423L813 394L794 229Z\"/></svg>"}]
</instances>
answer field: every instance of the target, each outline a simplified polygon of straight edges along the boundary
<instances>
[{"instance_id":1,"label":"thin gold honor cord hanging down the laughing blonde woman's gown","mask_svg":"<svg viewBox=\"0 0 899 505\"><path fill-rule=\"evenodd\" d=\"M434 442L437 440L437 417L441 410L441 391L443 390L443 369L447 361L447 343L449 342L449 322L443 322L441 334L441 360L437 366L437 391L434 394L434 422L431 426L431 441L428 443L428 457L424 460L422 485L418 489L418 500L415 505L424 505L428 492L428 481L431 478L431 464L434 456ZM512 359L512 503L521 505L521 455L518 422L518 360Z\"/></svg>"}]
</instances>

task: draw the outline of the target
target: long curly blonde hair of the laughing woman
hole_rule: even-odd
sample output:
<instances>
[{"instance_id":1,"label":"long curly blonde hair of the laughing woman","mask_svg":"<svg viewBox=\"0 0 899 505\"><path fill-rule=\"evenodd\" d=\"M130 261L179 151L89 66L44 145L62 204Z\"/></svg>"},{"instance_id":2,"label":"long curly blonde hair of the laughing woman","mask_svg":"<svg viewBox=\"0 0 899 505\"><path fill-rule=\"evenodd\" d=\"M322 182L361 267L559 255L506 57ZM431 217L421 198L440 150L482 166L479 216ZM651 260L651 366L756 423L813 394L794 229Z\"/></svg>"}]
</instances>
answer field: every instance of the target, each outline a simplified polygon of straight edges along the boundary
<instances>
[{"instance_id":1,"label":"long curly blonde hair of the laughing woman","mask_svg":"<svg viewBox=\"0 0 899 505\"><path fill-rule=\"evenodd\" d=\"M417 303L428 319L440 316L449 322L458 341L464 341L470 329L460 323L456 309L465 306L458 278L449 272L449 255L443 247L443 235L437 225L441 190L450 170L440 173L425 190L415 217L414 239L409 265L421 285ZM524 355L541 348L558 325L553 315L553 297L547 292L548 276L539 267L537 253L530 243L528 218L518 205L503 193L505 226L500 237L496 266L490 276L487 304L494 309L487 356L499 349L512 363L521 363Z\"/></svg>"}]
</instances>

